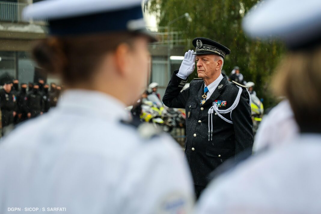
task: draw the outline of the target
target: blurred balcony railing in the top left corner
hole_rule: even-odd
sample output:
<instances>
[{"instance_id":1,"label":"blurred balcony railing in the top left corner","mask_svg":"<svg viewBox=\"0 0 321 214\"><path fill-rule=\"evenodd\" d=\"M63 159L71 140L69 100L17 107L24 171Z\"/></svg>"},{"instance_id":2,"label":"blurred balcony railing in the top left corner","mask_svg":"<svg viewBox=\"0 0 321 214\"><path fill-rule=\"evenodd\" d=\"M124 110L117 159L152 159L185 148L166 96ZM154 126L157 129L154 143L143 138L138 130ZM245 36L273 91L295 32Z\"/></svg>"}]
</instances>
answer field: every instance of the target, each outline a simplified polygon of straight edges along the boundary
<instances>
[{"instance_id":1,"label":"blurred balcony railing in the top left corner","mask_svg":"<svg viewBox=\"0 0 321 214\"><path fill-rule=\"evenodd\" d=\"M0 1L0 21L27 22L22 18L22 11L28 5L29 4L27 3ZM47 20L33 20L33 21L47 22Z\"/></svg>"}]
</instances>

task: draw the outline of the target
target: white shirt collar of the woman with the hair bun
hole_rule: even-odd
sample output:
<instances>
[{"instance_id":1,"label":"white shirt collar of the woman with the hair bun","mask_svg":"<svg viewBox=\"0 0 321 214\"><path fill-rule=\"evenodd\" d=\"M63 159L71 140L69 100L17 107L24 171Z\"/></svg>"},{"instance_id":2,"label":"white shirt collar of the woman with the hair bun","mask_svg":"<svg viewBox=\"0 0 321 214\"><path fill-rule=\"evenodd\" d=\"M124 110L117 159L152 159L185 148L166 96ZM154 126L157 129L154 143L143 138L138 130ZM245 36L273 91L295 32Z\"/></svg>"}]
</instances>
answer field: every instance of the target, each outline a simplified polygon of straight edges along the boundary
<instances>
[{"instance_id":1,"label":"white shirt collar of the woman with the hair bun","mask_svg":"<svg viewBox=\"0 0 321 214\"><path fill-rule=\"evenodd\" d=\"M128 120L129 113L118 99L91 90L66 90L59 98L57 109L80 115L90 115L100 119Z\"/></svg>"}]
</instances>

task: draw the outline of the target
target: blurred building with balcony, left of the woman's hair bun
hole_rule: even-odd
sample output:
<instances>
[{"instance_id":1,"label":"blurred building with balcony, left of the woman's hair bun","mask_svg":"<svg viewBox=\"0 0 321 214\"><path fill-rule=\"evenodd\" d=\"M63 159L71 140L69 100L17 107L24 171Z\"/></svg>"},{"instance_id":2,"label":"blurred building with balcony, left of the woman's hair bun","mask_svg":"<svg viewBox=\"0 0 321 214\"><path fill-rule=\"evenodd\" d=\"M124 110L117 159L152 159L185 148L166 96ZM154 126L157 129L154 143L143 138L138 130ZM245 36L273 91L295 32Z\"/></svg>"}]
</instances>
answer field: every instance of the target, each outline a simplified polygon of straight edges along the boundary
<instances>
[{"instance_id":1,"label":"blurred building with balcony, left of the woman's hair bun","mask_svg":"<svg viewBox=\"0 0 321 214\"><path fill-rule=\"evenodd\" d=\"M22 10L32 1L0 1L0 80L10 76L20 82L47 79L31 59L34 40L45 38L45 21L23 21Z\"/></svg>"}]
</instances>

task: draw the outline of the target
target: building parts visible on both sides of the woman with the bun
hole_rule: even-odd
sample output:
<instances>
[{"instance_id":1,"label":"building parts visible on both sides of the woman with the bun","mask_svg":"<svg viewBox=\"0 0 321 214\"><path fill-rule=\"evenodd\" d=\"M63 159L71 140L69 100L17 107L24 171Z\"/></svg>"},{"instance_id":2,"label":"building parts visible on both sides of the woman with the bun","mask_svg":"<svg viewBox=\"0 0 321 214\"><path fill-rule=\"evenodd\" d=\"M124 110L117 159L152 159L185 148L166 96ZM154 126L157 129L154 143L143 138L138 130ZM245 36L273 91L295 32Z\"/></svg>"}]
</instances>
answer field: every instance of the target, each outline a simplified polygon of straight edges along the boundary
<instances>
[{"instance_id":1,"label":"building parts visible on both sides of the woman with the bun","mask_svg":"<svg viewBox=\"0 0 321 214\"><path fill-rule=\"evenodd\" d=\"M0 1L0 83L1 77L11 76L20 83L36 82L43 78L47 83L57 82L56 78L41 73L31 57L33 43L46 37L45 21L22 20L22 10L28 4L40 0ZM146 89L150 82L159 83L159 93L164 95L171 74L178 69L182 60L170 56L184 56L186 41L179 39L180 32L155 32L159 41L149 46L151 53L150 73L146 79ZM2 83L1 83L2 84Z\"/></svg>"}]
</instances>

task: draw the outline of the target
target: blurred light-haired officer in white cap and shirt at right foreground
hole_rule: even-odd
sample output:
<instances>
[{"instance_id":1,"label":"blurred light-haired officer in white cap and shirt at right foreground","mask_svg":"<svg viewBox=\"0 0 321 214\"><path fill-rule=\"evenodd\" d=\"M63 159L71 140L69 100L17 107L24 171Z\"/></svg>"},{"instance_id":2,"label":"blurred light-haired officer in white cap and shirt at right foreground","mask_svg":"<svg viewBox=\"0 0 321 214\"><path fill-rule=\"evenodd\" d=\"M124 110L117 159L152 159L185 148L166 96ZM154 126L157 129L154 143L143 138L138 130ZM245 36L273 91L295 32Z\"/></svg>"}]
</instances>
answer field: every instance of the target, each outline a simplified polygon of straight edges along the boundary
<instances>
[{"instance_id":1,"label":"blurred light-haired officer in white cap and shirt at right foreground","mask_svg":"<svg viewBox=\"0 0 321 214\"><path fill-rule=\"evenodd\" d=\"M243 26L254 38L276 36L289 47L274 84L289 99L300 134L215 180L195 213L321 213L321 1L265 1Z\"/></svg>"}]
</instances>

